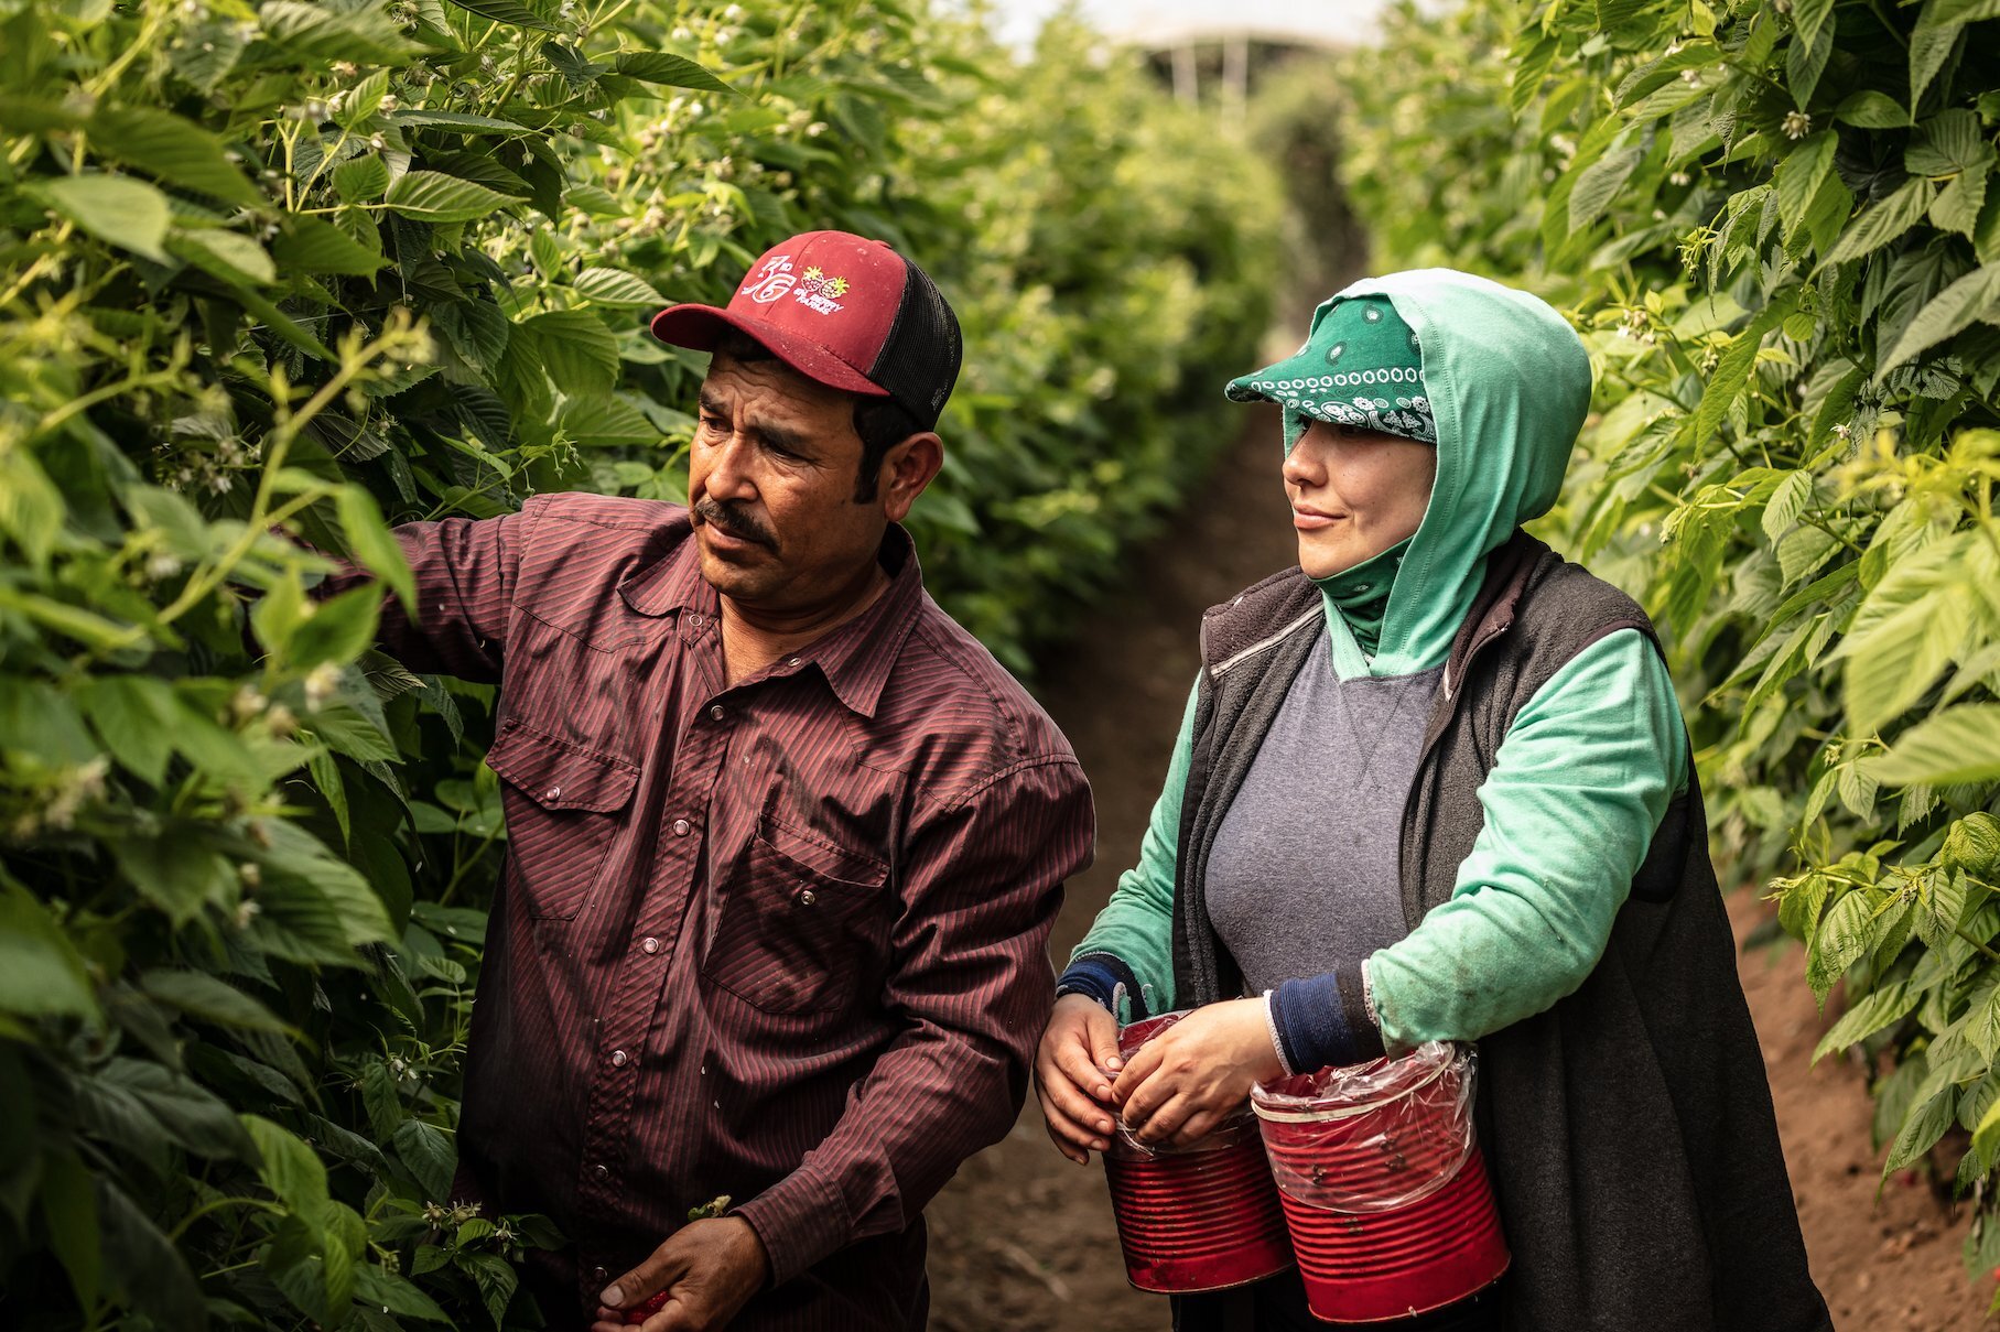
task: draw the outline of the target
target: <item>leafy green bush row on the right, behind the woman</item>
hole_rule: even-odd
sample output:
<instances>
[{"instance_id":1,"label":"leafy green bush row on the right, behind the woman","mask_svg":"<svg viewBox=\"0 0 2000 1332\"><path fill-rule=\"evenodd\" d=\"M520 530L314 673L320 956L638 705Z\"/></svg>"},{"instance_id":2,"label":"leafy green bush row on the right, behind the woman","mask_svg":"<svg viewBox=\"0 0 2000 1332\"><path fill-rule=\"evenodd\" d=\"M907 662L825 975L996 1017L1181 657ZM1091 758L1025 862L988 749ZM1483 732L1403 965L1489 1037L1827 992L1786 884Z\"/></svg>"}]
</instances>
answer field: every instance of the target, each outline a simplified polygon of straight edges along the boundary
<instances>
[{"instance_id":1,"label":"leafy green bush row on the right, behind the woman","mask_svg":"<svg viewBox=\"0 0 2000 1332\"><path fill-rule=\"evenodd\" d=\"M1384 266L1598 370L1550 532L1668 630L1720 844L2000 1258L2000 4L1468 0L1344 80ZM1950 1162L1946 1160L1946 1168Z\"/></svg>"}]
</instances>

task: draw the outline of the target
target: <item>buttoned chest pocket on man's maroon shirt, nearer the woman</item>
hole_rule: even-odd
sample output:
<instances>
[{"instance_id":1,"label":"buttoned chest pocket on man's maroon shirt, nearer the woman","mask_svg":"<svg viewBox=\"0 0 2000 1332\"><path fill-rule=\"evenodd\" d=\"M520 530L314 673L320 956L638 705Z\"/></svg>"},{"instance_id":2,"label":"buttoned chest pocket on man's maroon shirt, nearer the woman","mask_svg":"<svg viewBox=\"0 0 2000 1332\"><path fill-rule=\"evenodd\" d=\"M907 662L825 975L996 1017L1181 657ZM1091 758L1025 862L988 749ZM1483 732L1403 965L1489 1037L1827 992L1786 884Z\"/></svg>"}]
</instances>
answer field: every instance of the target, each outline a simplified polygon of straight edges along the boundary
<instances>
[{"instance_id":1,"label":"buttoned chest pocket on man's maroon shirt, nearer the woman","mask_svg":"<svg viewBox=\"0 0 2000 1332\"><path fill-rule=\"evenodd\" d=\"M888 866L772 818L718 882L702 974L774 1014L840 1012L888 958Z\"/></svg>"}]
</instances>

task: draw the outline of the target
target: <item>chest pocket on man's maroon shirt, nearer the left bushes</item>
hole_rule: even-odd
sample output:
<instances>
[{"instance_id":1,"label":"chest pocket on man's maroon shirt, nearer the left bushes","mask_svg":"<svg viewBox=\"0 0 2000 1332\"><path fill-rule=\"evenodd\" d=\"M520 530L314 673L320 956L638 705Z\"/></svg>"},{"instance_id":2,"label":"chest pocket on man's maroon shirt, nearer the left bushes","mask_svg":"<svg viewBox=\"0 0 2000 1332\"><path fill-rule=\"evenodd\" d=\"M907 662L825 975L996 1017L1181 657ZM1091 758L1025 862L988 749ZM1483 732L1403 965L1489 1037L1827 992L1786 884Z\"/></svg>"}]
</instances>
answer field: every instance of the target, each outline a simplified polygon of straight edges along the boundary
<instances>
[{"instance_id":1,"label":"chest pocket on man's maroon shirt, nearer the left bushes","mask_svg":"<svg viewBox=\"0 0 2000 1332\"><path fill-rule=\"evenodd\" d=\"M500 774L508 874L538 920L574 920L632 814L638 768L506 720L486 766Z\"/></svg>"}]
</instances>

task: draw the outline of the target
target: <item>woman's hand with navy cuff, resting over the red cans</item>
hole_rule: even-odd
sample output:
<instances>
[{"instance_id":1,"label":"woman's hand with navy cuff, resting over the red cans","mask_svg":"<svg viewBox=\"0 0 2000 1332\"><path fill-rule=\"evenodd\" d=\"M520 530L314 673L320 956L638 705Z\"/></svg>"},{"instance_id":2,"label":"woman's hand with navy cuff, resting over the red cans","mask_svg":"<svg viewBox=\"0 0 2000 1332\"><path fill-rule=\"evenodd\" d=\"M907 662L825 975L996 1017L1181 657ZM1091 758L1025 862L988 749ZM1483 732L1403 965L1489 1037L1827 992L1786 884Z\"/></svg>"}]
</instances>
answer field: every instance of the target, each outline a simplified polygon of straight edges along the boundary
<instances>
[{"instance_id":1,"label":"woman's hand with navy cuff, resting over the red cans","mask_svg":"<svg viewBox=\"0 0 2000 1332\"><path fill-rule=\"evenodd\" d=\"M1264 1000L1196 1008L1140 1046L1112 1098L1146 1146L1192 1146L1250 1098L1250 1086L1284 1072L1270 1044Z\"/></svg>"}]
</instances>

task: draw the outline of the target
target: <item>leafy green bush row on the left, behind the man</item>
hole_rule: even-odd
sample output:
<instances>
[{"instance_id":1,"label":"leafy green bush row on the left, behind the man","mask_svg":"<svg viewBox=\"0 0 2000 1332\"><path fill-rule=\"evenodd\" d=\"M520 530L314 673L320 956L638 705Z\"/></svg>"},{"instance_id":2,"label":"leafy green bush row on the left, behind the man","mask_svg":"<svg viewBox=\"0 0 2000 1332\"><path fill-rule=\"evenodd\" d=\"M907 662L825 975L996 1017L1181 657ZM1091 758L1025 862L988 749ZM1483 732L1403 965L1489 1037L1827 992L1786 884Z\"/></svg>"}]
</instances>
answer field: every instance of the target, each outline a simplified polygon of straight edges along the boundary
<instances>
[{"instance_id":1,"label":"leafy green bush row on the left, behind the man","mask_svg":"<svg viewBox=\"0 0 2000 1332\"><path fill-rule=\"evenodd\" d=\"M270 530L406 590L390 522L682 498L700 358L644 316L838 226L964 320L912 526L1024 664L1226 438L1274 248L1264 170L1084 46L926 0L0 2L0 1322L536 1326L560 1236L446 1206L492 694Z\"/></svg>"}]
</instances>

